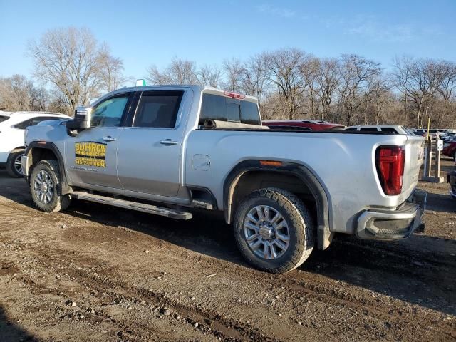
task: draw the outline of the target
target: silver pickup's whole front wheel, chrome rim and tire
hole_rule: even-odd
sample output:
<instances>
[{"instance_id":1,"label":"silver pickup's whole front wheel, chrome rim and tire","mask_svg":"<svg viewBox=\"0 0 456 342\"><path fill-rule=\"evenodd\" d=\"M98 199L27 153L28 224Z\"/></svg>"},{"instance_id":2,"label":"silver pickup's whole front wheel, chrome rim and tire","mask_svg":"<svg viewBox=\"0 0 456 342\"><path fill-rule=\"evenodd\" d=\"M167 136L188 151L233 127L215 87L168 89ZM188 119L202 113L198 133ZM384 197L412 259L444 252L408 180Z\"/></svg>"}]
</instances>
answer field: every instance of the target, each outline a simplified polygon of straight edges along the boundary
<instances>
[{"instance_id":1,"label":"silver pickup's whole front wheel, chrome rim and tire","mask_svg":"<svg viewBox=\"0 0 456 342\"><path fill-rule=\"evenodd\" d=\"M59 195L61 183L57 160L41 160L30 175L30 192L36 207L43 212L60 212L70 205L68 195Z\"/></svg>"}]
</instances>

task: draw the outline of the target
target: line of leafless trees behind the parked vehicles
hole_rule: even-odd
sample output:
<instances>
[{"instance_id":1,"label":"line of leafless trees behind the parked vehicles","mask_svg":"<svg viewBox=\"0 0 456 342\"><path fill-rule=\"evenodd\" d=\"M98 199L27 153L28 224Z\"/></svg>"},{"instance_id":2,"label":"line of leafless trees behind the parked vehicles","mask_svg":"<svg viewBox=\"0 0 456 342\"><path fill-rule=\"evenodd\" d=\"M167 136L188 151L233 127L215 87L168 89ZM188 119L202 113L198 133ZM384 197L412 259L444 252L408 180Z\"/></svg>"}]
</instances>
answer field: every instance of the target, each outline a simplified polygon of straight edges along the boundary
<instances>
[{"instance_id":1,"label":"line of leafless trees behind the parked vehicles","mask_svg":"<svg viewBox=\"0 0 456 342\"><path fill-rule=\"evenodd\" d=\"M123 61L86 28L48 31L29 43L28 52L41 86L19 75L0 78L0 110L72 113L76 105L132 83ZM402 56L385 70L356 54L320 58L281 48L220 65L176 57L165 68L152 64L145 78L148 84L200 84L254 95L265 119L419 127L430 118L432 127L456 128L453 61Z\"/></svg>"}]
</instances>

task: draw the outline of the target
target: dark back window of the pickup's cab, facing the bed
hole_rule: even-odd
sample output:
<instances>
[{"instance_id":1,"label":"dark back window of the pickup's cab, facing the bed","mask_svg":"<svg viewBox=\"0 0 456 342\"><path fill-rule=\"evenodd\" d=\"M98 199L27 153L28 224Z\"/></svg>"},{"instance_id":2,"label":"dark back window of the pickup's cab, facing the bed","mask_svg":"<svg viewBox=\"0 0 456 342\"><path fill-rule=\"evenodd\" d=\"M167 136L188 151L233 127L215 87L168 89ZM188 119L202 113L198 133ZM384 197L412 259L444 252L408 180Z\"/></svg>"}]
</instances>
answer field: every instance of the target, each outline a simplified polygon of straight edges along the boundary
<instances>
[{"instance_id":1,"label":"dark back window of the pickup's cab, facing the bed","mask_svg":"<svg viewBox=\"0 0 456 342\"><path fill-rule=\"evenodd\" d=\"M205 120L232 121L259 125L257 103L247 100L234 100L221 95L203 94L199 125Z\"/></svg>"}]
</instances>

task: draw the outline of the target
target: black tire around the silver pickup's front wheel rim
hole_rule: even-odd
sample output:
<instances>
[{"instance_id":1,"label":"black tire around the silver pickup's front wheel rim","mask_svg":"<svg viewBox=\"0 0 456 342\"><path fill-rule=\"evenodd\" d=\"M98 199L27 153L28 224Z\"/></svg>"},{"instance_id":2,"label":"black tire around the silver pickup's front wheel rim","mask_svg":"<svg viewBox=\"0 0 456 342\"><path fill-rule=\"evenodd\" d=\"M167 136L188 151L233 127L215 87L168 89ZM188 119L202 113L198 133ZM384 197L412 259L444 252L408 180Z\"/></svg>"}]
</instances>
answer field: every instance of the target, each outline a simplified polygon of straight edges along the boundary
<instances>
[{"instance_id":1,"label":"black tire around the silver pickup's front wheel rim","mask_svg":"<svg viewBox=\"0 0 456 342\"><path fill-rule=\"evenodd\" d=\"M37 178L39 177L38 173L40 173L41 171L43 171L41 175L47 174L46 177L48 177L48 183L46 184L51 184L50 187L52 188L52 196L50 196L51 199L47 203L46 201L43 202L43 200L39 198L35 191L35 186L36 184L38 184L39 181ZM42 210L43 212L60 212L61 210L65 210L68 208L71 202L71 197L68 195L58 194L58 187L60 184L61 176L57 160L41 160L33 166L33 170L30 175L29 185L31 197L36 207L38 207L38 209Z\"/></svg>"}]
</instances>

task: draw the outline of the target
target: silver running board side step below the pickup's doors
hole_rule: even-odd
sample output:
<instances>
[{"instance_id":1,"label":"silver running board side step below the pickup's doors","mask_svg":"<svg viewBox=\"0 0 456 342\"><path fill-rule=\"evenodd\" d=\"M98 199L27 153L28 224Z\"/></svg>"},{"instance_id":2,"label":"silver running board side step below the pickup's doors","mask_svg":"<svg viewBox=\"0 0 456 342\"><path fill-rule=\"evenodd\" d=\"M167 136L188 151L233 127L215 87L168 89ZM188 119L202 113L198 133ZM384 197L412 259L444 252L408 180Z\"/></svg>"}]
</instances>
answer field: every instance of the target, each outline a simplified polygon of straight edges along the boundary
<instances>
[{"instance_id":1,"label":"silver running board side step below the pickup's doors","mask_svg":"<svg viewBox=\"0 0 456 342\"><path fill-rule=\"evenodd\" d=\"M191 219L191 212L179 212L175 209L157 207L152 204L144 204L138 202L132 202L125 199L117 199L108 196L94 195L88 192L76 191L71 194L71 197L76 199L84 199L90 202L96 202L101 204L112 205L113 207L120 207L125 209L137 210L138 212L147 212L149 214L155 214L165 217L170 217L171 219Z\"/></svg>"}]
</instances>

